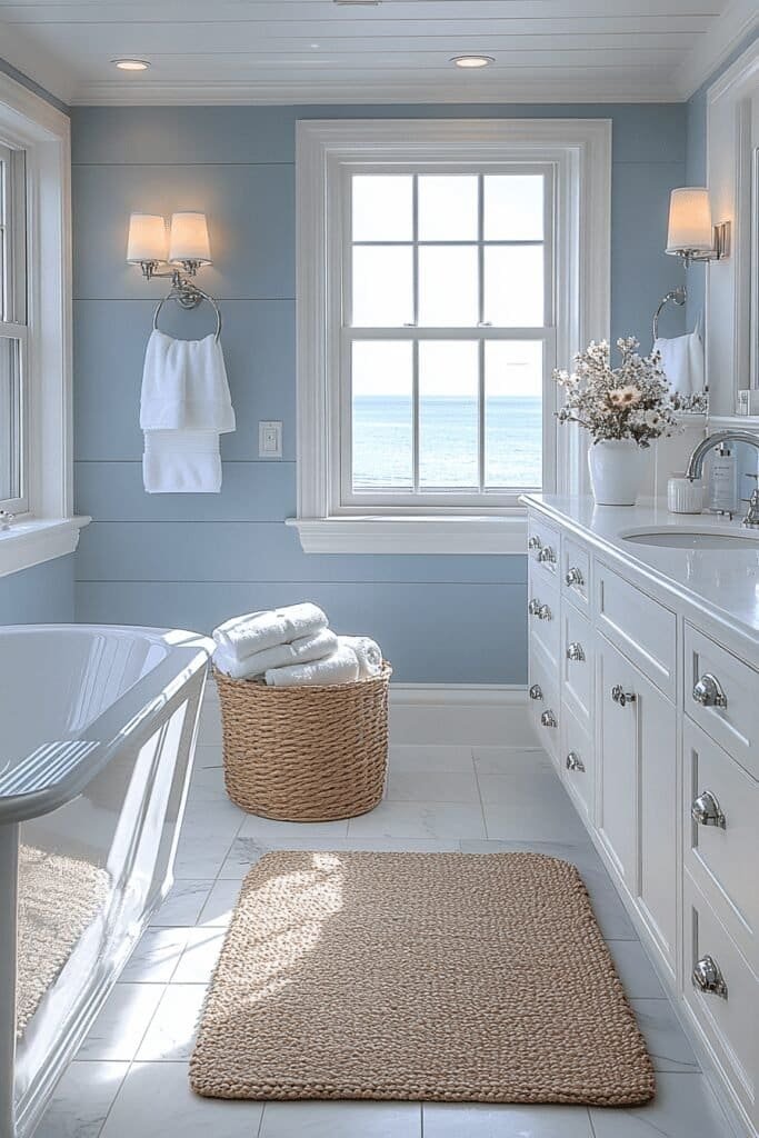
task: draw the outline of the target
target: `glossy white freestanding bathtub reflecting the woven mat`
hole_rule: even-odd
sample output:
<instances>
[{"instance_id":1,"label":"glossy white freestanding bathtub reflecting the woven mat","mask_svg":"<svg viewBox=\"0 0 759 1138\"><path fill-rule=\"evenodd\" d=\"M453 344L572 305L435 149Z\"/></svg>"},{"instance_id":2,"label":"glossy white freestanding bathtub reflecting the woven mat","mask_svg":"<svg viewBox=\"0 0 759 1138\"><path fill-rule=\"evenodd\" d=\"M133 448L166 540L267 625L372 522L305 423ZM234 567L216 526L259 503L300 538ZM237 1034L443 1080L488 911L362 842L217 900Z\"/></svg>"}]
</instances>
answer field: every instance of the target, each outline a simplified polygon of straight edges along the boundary
<instances>
[{"instance_id":1,"label":"glossy white freestanding bathtub reflecting the woven mat","mask_svg":"<svg viewBox=\"0 0 759 1138\"><path fill-rule=\"evenodd\" d=\"M0 1138L33 1132L172 883L212 649L0 628Z\"/></svg>"}]
</instances>

